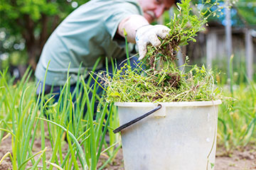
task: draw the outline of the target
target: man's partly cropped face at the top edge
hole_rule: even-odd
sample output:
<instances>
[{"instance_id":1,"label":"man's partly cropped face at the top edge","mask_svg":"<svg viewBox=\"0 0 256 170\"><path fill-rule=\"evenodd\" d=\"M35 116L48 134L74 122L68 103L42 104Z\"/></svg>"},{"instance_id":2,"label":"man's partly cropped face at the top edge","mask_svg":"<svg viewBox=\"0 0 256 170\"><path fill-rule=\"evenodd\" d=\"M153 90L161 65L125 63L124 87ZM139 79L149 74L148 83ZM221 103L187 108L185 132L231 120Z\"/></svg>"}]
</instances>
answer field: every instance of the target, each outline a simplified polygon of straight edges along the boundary
<instances>
[{"instance_id":1,"label":"man's partly cropped face at the top edge","mask_svg":"<svg viewBox=\"0 0 256 170\"><path fill-rule=\"evenodd\" d=\"M176 0L138 0L142 6L144 17L149 23L159 18L164 11L169 10Z\"/></svg>"}]
</instances>

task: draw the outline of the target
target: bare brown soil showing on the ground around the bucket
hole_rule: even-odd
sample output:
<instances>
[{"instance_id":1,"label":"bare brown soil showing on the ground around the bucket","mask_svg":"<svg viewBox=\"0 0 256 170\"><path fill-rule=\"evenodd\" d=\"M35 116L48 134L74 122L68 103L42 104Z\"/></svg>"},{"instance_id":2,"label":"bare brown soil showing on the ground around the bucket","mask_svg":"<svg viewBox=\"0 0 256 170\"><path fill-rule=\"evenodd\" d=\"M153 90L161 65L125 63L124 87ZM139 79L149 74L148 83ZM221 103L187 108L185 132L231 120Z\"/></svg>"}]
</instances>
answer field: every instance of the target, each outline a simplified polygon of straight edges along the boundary
<instances>
[{"instance_id":1,"label":"bare brown soil showing on the ground around the bucket","mask_svg":"<svg viewBox=\"0 0 256 170\"><path fill-rule=\"evenodd\" d=\"M46 141L46 147L50 151L50 142ZM68 144L63 143L63 151L68 149ZM33 152L38 152L41 150L41 140L38 139L34 143ZM0 159L6 154L6 152L11 152L11 137L1 142L0 145ZM46 159L50 159L50 152L46 152ZM65 153L65 152L64 152ZM250 145L245 147L245 149L236 149L229 156L225 155L224 149L222 147L217 148L215 160L215 170L256 170L256 146ZM107 156L103 155L98 163L98 167L104 164L107 160ZM28 163L28 167L31 166L31 162ZM6 157L4 162L0 164L0 170L12 169L11 159ZM107 165L105 170L124 170L124 162L122 159L122 149L119 149L117 156L114 161Z\"/></svg>"}]
</instances>

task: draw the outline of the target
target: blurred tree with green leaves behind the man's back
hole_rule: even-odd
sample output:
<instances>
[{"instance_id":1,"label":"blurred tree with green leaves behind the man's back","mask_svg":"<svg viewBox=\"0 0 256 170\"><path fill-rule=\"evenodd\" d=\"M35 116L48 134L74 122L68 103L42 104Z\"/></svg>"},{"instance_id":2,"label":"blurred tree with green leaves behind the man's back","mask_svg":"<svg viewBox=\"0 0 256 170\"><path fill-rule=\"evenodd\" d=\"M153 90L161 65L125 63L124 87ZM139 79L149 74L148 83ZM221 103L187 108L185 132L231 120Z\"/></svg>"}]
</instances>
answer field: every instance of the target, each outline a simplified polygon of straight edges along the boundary
<instances>
[{"instance_id":1,"label":"blurred tree with green leaves behind the man's back","mask_svg":"<svg viewBox=\"0 0 256 170\"><path fill-rule=\"evenodd\" d=\"M1 0L0 69L33 69L46 40L75 8L88 0Z\"/></svg>"}]
</instances>

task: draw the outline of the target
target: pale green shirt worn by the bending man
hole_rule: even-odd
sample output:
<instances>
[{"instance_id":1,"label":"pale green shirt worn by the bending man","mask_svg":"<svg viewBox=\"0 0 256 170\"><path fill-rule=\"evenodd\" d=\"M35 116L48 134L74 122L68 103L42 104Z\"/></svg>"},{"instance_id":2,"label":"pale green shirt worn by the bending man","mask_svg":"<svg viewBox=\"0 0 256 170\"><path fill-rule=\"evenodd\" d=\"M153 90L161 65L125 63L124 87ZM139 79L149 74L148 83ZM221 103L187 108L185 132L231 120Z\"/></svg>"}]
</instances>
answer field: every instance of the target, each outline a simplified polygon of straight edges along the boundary
<instances>
[{"instance_id":1,"label":"pale green shirt worn by the bending man","mask_svg":"<svg viewBox=\"0 0 256 170\"><path fill-rule=\"evenodd\" d=\"M119 23L134 14L142 15L136 0L91 0L80 6L50 35L36 67L36 78L43 81L50 61L46 84L63 85L70 64L70 84L75 84L80 63L81 73L90 71L99 57L124 56L124 39L117 40L114 35ZM103 64L101 60L97 69Z\"/></svg>"}]
</instances>

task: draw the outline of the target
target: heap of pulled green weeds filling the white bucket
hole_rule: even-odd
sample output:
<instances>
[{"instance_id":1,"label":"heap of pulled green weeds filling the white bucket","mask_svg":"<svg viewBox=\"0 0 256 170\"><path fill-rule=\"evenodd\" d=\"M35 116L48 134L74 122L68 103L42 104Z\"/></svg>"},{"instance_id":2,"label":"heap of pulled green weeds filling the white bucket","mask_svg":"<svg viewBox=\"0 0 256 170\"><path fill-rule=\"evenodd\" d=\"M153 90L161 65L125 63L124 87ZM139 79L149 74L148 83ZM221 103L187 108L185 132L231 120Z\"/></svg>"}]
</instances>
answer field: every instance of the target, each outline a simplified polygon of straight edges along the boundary
<instances>
[{"instance_id":1,"label":"heap of pulled green weeds filling the white bucket","mask_svg":"<svg viewBox=\"0 0 256 170\"><path fill-rule=\"evenodd\" d=\"M154 74L139 74L137 69L129 72L129 68L126 65L113 78L109 77L107 101L212 101L220 98L213 76L205 67L193 66L187 73L174 69Z\"/></svg>"}]
</instances>

